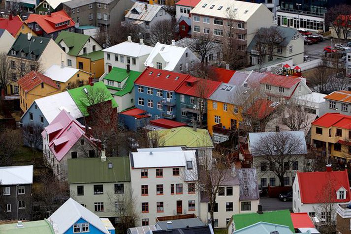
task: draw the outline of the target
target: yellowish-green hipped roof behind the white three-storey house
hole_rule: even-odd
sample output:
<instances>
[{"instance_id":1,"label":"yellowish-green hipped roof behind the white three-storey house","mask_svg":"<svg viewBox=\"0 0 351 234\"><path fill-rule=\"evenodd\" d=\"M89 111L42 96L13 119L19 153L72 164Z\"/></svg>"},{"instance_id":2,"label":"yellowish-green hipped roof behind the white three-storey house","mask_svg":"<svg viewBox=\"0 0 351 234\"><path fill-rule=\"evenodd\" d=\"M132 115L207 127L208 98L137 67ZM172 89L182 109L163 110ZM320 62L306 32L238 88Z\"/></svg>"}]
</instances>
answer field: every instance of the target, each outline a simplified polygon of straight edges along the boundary
<instances>
[{"instance_id":1,"label":"yellowish-green hipped roof behind the white three-storey house","mask_svg":"<svg viewBox=\"0 0 351 234\"><path fill-rule=\"evenodd\" d=\"M207 129L197 129L192 127L177 127L151 131L148 137L158 134L159 146L186 146L189 148L213 147L212 139Z\"/></svg>"}]
</instances>

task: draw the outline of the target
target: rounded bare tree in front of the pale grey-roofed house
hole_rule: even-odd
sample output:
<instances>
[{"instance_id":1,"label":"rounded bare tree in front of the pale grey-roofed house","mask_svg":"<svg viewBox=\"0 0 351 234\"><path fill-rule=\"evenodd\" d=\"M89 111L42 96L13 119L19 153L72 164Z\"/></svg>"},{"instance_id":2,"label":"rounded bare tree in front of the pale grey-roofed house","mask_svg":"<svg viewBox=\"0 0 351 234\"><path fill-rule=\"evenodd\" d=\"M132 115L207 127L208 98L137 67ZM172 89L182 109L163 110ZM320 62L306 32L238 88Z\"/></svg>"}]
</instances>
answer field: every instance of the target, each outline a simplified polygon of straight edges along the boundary
<instances>
[{"instance_id":1,"label":"rounded bare tree in front of the pale grey-roofed house","mask_svg":"<svg viewBox=\"0 0 351 234\"><path fill-rule=\"evenodd\" d=\"M306 152L302 151L303 140L291 132L272 132L259 138L251 146L252 154L259 161L268 163L273 172L284 186L284 177L295 161L299 161Z\"/></svg>"}]
</instances>

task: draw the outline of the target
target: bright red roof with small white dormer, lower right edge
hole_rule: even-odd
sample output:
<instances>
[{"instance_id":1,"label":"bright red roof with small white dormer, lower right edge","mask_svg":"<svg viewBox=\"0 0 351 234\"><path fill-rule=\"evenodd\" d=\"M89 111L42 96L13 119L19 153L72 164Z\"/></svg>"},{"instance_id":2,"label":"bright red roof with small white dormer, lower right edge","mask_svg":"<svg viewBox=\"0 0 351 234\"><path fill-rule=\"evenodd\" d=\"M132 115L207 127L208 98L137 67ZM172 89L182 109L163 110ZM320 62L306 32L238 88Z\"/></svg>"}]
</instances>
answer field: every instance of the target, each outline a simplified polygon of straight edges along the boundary
<instances>
[{"instance_id":1,"label":"bright red roof with small white dormer, lower right edge","mask_svg":"<svg viewBox=\"0 0 351 234\"><path fill-rule=\"evenodd\" d=\"M300 187L301 202L304 204L323 203L321 193L331 186L334 203L346 203L350 201L350 183L348 171L332 172L297 172ZM337 191L343 187L346 189L345 199L337 199Z\"/></svg>"}]
</instances>

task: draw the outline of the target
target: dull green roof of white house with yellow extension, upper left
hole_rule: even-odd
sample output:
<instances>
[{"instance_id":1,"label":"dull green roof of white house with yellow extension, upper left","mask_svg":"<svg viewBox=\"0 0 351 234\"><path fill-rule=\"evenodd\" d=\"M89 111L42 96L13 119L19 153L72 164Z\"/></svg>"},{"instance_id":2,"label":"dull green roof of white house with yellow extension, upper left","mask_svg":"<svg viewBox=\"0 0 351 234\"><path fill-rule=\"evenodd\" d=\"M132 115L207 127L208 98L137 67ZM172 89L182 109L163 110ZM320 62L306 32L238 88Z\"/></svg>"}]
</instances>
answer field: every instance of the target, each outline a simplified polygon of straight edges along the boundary
<instances>
[{"instance_id":1,"label":"dull green roof of white house with yellow extension, upper left","mask_svg":"<svg viewBox=\"0 0 351 234\"><path fill-rule=\"evenodd\" d=\"M64 44L69 47L69 51L66 53L71 56L77 56L85 43L87 43L89 37L89 35L81 33L61 31L56 37L55 42L59 44L61 40L64 40Z\"/></svg>"}]
</instances>

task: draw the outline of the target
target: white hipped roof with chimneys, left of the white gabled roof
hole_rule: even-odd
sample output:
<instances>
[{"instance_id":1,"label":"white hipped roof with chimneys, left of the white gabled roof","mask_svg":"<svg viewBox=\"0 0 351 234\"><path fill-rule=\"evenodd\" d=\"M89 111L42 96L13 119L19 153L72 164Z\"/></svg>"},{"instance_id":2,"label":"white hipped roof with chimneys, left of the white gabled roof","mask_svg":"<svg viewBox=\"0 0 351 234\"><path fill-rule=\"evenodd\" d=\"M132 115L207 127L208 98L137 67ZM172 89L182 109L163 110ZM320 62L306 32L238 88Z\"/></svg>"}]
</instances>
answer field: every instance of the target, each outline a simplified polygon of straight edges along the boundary
<instances>
[{"instance_id":1,"label":"white hipped roof with chimneys, left of the white gabled roof","mask_svg":"<svg viewBox=\"0 0 351 234\"><path fill-rule=\"evenodd\" d=\"M149 55L152 49L153 47L151 46L135 43L132 41L125 41L120 44L103 49L102 51L138 58L144 55Z\"/></svg>"}]
</instances>

